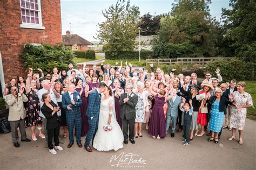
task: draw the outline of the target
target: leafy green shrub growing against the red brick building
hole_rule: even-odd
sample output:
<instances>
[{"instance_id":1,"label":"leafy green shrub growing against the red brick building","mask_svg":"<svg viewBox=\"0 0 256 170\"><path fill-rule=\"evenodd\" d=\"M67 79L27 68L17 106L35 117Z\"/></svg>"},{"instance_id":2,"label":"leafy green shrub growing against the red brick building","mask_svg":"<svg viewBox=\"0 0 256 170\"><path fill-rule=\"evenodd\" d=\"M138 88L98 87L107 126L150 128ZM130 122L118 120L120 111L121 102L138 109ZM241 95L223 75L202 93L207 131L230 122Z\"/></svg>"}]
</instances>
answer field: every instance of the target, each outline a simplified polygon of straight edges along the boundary
<instances>
[{"instance_id":1,"label":"leafy green shrub growing against the red brick building","mask_svg":"<svg viewBox=\"0 0 256 170\"><path fill-rule=\"evenodd\" d=\"M59 70L67 69L69 63L75 63L72 61L75 56L71 49L66 49L62 44L55 46L42 44L42 46L33 46L26 44L24 51L20 54L23 66L25 68L34 68L35 73L37 68L41 68L44 72L50 73L53 67L57 67Z\"/></svg>"}]
</instances>

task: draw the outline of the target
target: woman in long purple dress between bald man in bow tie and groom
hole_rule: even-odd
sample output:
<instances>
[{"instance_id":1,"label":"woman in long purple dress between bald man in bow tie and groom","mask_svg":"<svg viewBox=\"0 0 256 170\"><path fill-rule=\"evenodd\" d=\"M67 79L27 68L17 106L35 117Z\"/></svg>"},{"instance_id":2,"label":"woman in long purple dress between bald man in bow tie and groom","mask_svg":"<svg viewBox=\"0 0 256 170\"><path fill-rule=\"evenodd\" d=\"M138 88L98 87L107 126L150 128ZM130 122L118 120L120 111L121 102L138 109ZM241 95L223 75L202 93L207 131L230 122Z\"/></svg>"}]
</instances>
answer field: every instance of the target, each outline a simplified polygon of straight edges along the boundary
<instances>
[{"instance_id":1,"label":"woman in long purple dress between bald man in bow tie and groom","mask_svg":"<svg viewBox=\"0 0 256 170\"><path fill-rule=\"evenodd\" d=\"M86 136L87 132L89 131L89 124L88 124L88 119L86 116L86 111L88 107L87 99L88 93L85 90L85 87L83 87L83 81L81 78L76 79L76 91L80 93L81 99L82 99L82 105L80 106L80 112L81 112L81 118L82 118L82 131L81 131L81 136L84 137Z\"/></svg>"}]
</instances>

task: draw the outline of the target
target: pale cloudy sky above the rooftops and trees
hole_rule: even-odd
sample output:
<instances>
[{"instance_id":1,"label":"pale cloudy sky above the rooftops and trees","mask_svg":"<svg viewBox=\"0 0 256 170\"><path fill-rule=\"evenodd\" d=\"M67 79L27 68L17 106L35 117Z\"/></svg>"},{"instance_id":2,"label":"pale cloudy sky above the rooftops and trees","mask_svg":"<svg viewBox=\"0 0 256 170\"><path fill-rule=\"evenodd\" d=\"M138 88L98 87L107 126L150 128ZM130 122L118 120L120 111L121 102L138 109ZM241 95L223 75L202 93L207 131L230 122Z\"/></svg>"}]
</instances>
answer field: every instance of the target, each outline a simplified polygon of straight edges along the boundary
<instances>
[{"instance_id":1,"label":"pale cloudy sky above the rooftops and trees","mask_svg":"<svg viewBox=\"0 0 256 170\"><path fill-rule=\"evenodd\" d=\"M193 0L192 0L193 1ZM89 41L98 41L98 23L104 22L102 11L108 9L117 0L60 0L62 13L62 34L70 30ZM150 12L151 15L159 15L171 11L174 0L130 0L131 5L139 6L140 16ZM212 0L210 10L212 17L218 20L221 17L222 8L230 8L229 0ZM71 23L71 24L70 24Z\"/></svg>"}]
</instances>

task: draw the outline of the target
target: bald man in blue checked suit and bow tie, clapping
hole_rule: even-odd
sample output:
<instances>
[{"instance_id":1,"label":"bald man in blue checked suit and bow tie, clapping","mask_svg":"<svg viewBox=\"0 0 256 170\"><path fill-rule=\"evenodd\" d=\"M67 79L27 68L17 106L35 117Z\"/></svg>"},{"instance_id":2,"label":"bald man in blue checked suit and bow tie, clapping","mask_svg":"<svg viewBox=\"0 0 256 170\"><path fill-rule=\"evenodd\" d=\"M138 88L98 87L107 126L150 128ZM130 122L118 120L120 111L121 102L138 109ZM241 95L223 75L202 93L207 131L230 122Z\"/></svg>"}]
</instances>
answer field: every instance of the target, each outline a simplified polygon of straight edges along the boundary
<instances>
[{"instance_id":1,"label":"bald man in blue checked suit and bow tie, clapping","mask_svg":"<svg viewBox=\"0 0 256 170\"><path fill-rule=\"evenodd\" d=\"M80 94L76 91L75 84L71 83L69 85L69 91L64 93L62 96L62 108L66 111L66 123L68 124L69 129L68 148L74 144L74 123L76 124L77 145L79 147L83 147L81 144L82 119L80 114L80 105L82 105Z\"/></svg>"}]
</instances>

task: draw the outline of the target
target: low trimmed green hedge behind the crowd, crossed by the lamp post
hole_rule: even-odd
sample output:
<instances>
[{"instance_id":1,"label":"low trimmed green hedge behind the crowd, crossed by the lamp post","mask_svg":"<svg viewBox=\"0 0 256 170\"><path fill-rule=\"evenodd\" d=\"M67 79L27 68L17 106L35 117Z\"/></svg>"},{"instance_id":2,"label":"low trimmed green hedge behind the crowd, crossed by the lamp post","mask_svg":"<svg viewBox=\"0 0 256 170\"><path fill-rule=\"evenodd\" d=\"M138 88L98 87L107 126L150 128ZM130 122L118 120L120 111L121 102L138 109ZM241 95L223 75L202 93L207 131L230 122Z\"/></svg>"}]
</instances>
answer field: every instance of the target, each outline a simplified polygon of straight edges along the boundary
<instances>
[{"instance_id":1,"label":"low trimmed green hedge behind the crowd, crossed by the lamp post","mask_svg":"<svg viewBox=\"0 0 256 170\"><path fill-rule=\"evenodd\" d=\"M151 58L152 52L142 50L140 51L140 59ZM120 51L118 54L114 54L112 52L105 52L105 58L111 60L120 60L120 59L138 59L139 52L138 51Z\"/></svg>"}]
</instances>

